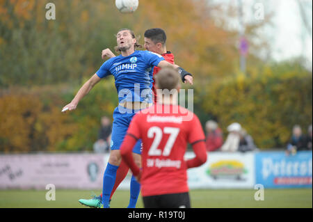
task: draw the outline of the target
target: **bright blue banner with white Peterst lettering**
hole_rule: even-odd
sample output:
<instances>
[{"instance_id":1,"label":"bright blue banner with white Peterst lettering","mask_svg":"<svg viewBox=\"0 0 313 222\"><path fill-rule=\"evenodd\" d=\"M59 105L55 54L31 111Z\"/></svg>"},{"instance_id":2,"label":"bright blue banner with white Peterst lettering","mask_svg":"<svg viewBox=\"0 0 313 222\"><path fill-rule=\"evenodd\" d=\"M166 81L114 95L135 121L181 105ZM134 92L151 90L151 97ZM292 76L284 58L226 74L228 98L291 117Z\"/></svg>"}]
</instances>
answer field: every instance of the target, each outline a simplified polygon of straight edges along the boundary
<instances>
[{"instance_id":1,"label":"bright blue banner with white Peterst lettering","mask_svg":"<svg viewBox=\"0 0 313 222\"><path fill-rule=\"evenodd\" d=\"M265 188L312 188L312 151L259 152L255 164L256 182Z\"/></svg>"}]
</instances>

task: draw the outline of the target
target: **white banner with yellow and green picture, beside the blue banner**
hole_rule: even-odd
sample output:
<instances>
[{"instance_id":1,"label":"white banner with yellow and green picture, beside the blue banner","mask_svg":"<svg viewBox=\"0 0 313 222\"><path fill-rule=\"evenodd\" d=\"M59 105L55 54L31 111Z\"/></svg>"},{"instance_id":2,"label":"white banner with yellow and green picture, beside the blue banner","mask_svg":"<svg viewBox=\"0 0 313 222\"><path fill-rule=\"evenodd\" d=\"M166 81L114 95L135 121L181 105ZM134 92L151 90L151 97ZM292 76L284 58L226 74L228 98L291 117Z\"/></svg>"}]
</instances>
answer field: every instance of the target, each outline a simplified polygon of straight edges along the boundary
<instances>
[{"instance_id":1,"label":"white banner with yellow and green picture, beside the blue banner","mask_svg":"<svg viewBox=\"0 0 313 222\"><path fill-rule=\"evenodd\" d=\"M190 189L253 189L255 186L254 153L209 152L208 160L198 168L188 169ZM186 157L193 157L188 152Z\"/></svg>"}]
</instances>

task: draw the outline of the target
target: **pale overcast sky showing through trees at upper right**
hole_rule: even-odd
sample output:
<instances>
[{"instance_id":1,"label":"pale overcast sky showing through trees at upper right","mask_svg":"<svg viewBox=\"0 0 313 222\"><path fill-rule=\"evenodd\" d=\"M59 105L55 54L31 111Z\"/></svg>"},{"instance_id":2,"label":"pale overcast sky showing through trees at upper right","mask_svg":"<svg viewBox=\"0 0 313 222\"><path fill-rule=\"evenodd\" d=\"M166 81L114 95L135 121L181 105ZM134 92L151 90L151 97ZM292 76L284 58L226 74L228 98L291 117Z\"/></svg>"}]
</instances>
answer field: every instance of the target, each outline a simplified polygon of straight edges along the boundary
<instances>
[{"instance_id":1,"label":"pale overcast sky showing through trees at upper right","mask_svg":"<svg viewBox=\"0 0 313 222\"><path fill-rule=\"evenodd\" d=\"M309 30L305 29L298 1L304 6L305 19ZM222 2L228 6L239 6L239 0L209 0ZM312 0L241 0L243 4L243 23L255 19L256 3L262 3L264 13L274 13L273 26L266 25L259 33L266 36L271 44L271 57L282 61L297 56L305 56L306 65L312 70ZM230 20L231 29L239 27L239 19Z\"/></svg>"}]
</instances>

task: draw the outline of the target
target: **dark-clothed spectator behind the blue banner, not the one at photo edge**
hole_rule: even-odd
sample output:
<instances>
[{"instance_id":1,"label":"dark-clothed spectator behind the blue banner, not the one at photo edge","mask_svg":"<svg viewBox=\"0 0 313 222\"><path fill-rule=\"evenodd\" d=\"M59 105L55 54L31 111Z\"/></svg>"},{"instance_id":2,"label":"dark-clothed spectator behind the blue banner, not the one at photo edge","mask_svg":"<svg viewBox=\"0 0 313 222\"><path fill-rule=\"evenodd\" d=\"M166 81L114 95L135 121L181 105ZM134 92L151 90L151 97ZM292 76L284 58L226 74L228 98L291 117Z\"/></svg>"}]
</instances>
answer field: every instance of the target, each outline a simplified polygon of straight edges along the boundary
<instances>
[{"instance_id":1,"label":"dark-clothed spectator behind the blue banner, not the one at photo edge","mask_svg":"<svg viewBox=\"0 0 313 222\"><path fill-rule=\"evenodd\" d=\"M294 125L292 128L292 136L287 144L286 154L296 154L299 150L307 150L305 136L302 134L302 129L299 125Z\"/></svg>"}]
</instances>

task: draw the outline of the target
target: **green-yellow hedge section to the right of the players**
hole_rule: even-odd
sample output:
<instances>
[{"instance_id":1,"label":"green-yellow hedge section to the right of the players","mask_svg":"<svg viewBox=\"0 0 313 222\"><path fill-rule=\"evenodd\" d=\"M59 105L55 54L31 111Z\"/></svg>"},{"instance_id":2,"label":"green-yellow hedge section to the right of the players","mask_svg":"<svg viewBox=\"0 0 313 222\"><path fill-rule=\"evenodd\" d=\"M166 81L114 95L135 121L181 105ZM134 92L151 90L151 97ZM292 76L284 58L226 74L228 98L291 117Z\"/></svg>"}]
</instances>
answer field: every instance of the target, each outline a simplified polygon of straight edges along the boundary
<instances>
[{"instance_id":1,"label":"green-yellow hedge section to the right of the players","mask_svg":"<svg viewBox=\"0 0 313 222\"><path fill-rule=\"evenodd\" d=\"M296 62L211 81L203 94L202 111L217 118L225 135L227 125L239 122L259 148L282 148L293 125L306 132L312 124L312 72Z\"/></svg>"}]
</instances>

